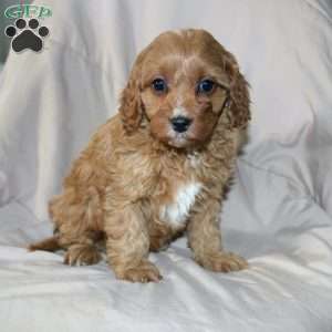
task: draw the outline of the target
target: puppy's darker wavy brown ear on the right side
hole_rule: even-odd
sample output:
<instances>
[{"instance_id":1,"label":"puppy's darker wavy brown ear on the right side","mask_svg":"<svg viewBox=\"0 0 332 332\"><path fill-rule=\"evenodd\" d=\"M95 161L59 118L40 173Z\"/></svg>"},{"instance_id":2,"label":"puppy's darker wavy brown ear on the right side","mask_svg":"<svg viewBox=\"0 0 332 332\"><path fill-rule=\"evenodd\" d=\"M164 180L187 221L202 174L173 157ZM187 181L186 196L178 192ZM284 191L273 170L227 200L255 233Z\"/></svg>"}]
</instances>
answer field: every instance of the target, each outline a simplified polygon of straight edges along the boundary
<instances>
[{"instance_id":1,"label":"puppy's darker wavy brown ear on the right side","mask_svg":"<svg viewBox=\"0 0 332 332\"><path fill-rule=\"evenodd\" d=\"M246 128L250 121L249 84L239 71L235 56L226 52L224 58L226 73L230 77L229 100L226 111L231 128Z\"/></svg>"}]
</instances>

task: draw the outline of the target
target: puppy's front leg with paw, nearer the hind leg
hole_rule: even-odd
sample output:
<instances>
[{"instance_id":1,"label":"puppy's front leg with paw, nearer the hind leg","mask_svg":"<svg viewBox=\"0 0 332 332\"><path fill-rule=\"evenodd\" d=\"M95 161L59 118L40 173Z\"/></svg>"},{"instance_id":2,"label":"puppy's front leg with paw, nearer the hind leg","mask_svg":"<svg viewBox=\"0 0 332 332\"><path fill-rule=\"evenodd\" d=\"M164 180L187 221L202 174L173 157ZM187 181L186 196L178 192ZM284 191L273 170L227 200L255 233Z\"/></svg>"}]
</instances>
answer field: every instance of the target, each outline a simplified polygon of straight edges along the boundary
<instances>
[{"instance_id":1,"label":"puppy's front leg with paw, nearer the hind leg","mask_svg":"<svg viewBox=\"0 0 332 332\"><path fill-rule=\"evenodd\" d=\"M132 282L159 281L158 269L148 261L149 236L139 204L106 212L106 255L116 278Z\"/></svg>"}]
</instances>

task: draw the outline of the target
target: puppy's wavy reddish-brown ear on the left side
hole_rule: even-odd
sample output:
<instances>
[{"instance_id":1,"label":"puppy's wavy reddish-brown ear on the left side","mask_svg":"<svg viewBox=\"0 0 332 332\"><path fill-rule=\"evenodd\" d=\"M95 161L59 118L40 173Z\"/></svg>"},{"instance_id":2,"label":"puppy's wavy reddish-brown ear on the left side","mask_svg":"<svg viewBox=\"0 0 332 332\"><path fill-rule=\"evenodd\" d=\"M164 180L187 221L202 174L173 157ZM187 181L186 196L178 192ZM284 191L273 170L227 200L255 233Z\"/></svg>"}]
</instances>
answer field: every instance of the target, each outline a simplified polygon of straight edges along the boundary
<instances>
[{"instance_id":1,"label":"puppy's wavy reddish-brown ear on the left side","mask_svg":"<svg viewBox=\"0 0 332 332\"><path fill-rule=\"evenodd\" d=\"M143 116L141 100L142 63L146 51L139 53L129 74L129 80L120 98L120 115L125 131L131 134L138 128Z\"/></svg>"}]
</instances>

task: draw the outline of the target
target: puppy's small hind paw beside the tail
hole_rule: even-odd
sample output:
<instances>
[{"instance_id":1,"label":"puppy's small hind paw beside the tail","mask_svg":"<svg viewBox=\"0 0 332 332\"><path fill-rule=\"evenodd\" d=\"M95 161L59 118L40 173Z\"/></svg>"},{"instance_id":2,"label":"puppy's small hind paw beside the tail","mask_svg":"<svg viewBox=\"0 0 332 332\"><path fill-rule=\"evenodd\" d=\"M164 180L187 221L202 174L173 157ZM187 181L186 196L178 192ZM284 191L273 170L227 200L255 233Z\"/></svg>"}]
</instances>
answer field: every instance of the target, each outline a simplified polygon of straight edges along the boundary
<instances>
[{"instance_id":1,"label":"puppy's small hind paw beside the tail","mask_svg":"<svg viewBox=\"0 0 332 332\"><path fill-rule=\"evenodd\" d=\"M72 245L64 257L64 263L69 266L96 264L102 259L101 253L92 245Z\"/></svg>"}]
</instances>

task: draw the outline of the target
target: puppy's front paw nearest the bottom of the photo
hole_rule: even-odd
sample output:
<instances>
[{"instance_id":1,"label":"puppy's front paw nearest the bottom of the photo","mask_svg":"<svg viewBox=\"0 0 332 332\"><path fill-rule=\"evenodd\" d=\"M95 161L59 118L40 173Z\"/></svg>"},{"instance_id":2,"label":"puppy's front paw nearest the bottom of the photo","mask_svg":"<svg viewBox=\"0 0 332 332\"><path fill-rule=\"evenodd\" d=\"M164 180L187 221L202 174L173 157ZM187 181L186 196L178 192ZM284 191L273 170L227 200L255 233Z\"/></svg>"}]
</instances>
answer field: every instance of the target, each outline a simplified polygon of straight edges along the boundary
<instances>
[{"instance_id":1,"label":"puppy's front paw nearest the bottom of the photo","mask_svg":"<svg viewBox=\"0 0 332 332\"><path fill-rule=\"evenodd\" d=\"M142 261L137 267L129 269L116 269L115 274L118 279L131 282L158 282L163 279L159 270L148 260Z\"/></svg>"}]
</instances>

